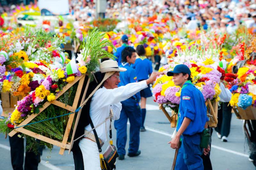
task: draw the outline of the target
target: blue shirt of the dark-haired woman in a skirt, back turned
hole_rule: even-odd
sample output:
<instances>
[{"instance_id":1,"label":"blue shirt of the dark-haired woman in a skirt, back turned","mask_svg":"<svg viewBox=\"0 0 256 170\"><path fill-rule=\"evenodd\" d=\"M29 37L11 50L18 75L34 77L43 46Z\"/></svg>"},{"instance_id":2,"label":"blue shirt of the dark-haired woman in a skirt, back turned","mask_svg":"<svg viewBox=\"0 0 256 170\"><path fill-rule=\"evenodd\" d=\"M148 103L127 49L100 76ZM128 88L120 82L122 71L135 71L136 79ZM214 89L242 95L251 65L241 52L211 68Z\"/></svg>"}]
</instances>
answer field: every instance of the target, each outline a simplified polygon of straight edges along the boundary
<instances>
[{"instance_id":1,"label":"blue shirt of the dark-haired woman in a skirt, back turned","mask_svg":"<svg viewBox=\"0 0 256 170\"><path fill-rule=\"evenodd\" d=\"M152 73L152 62L146 57L137 58L132 67L135 68L139 81L148 79L148 75Z\"/></svg>"}]
</instances>

